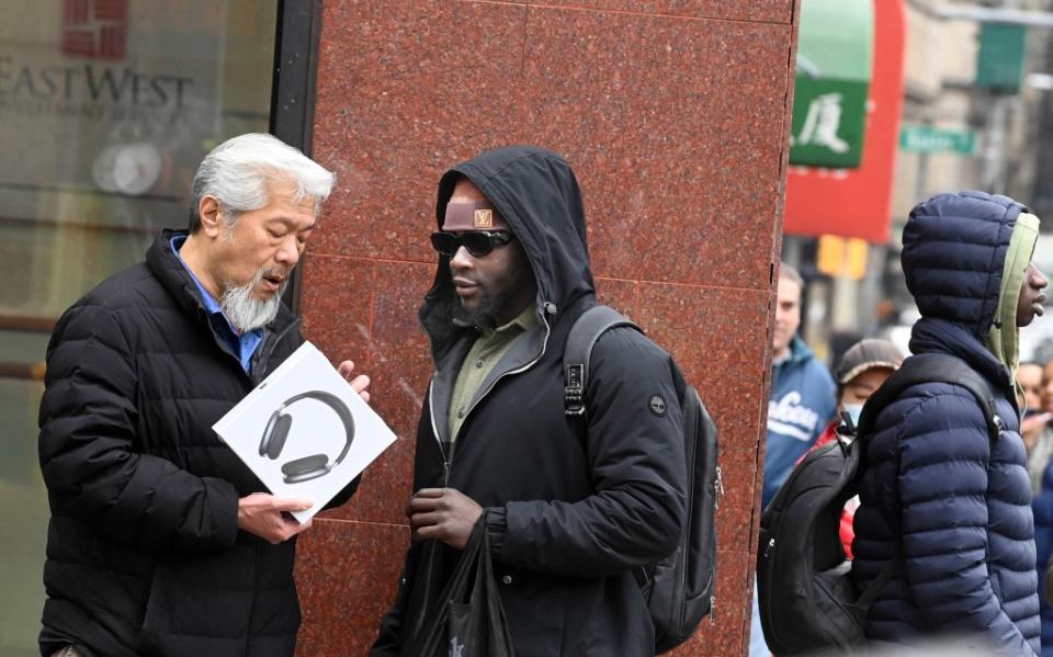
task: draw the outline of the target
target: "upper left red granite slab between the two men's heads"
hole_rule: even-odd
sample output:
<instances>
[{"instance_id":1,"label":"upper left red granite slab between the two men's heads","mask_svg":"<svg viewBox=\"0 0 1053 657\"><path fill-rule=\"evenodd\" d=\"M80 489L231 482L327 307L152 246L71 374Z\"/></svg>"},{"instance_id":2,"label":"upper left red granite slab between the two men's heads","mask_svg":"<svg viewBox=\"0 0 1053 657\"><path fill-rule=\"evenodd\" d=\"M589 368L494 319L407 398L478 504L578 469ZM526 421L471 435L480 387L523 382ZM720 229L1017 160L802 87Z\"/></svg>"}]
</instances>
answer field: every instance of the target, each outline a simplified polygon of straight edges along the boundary
<instances>
[{"instance_id":1,"label":"upper left red granite slab between the two men's heads","mask_svg":"<svg viewBox=\"0 0 1053 657\"><path fill-rule=\"evenodd\" d=\"M326 2L314 155L338 175L327 253L431 261L435 173L522 141L526 8Z\"/></svg>"}]
</instances>

